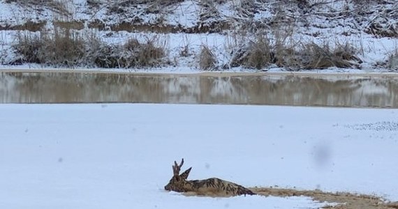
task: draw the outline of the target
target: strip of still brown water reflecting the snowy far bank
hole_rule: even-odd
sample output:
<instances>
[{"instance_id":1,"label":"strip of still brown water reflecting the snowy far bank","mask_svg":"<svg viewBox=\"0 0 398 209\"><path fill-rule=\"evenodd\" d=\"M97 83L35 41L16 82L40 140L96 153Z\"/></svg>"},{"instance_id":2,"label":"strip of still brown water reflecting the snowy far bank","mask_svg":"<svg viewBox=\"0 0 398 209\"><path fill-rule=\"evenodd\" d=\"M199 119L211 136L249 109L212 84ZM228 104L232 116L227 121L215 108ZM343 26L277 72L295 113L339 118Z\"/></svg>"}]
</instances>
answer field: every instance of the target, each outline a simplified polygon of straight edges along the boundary
<instances>
[{"instance_id":1,"label":"strip of still brown water reflecting the snowy far bank","mask_svg":"<svg viewBox=\"0 0 398 209\"><path fill-rule=\"evenodd\" d=\"M1 72L1 103L151 102L398 107L395 75Z\"/></svg>"}]
</instances>

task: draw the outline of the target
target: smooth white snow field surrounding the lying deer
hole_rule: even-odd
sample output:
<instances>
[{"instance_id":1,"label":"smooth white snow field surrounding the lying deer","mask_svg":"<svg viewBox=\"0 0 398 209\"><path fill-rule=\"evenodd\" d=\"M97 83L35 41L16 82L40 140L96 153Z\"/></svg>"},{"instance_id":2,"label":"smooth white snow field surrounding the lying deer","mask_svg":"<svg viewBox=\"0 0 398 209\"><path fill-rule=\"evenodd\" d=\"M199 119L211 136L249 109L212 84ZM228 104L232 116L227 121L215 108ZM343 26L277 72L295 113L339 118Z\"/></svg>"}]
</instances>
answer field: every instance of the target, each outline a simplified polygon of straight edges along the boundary
<instances>
[{"instance_id":1,"label":"smooth white snow field surrounding the lying deer","mask_svg":"<svg viewBox=\"0 0 398 209\"><path fill-rule=\"evenodd\" d=\"M398 110L0 104L0 208L318 208L307 197L166 192L189 179L398 200Z\"/></svg>"}]
</instances>

